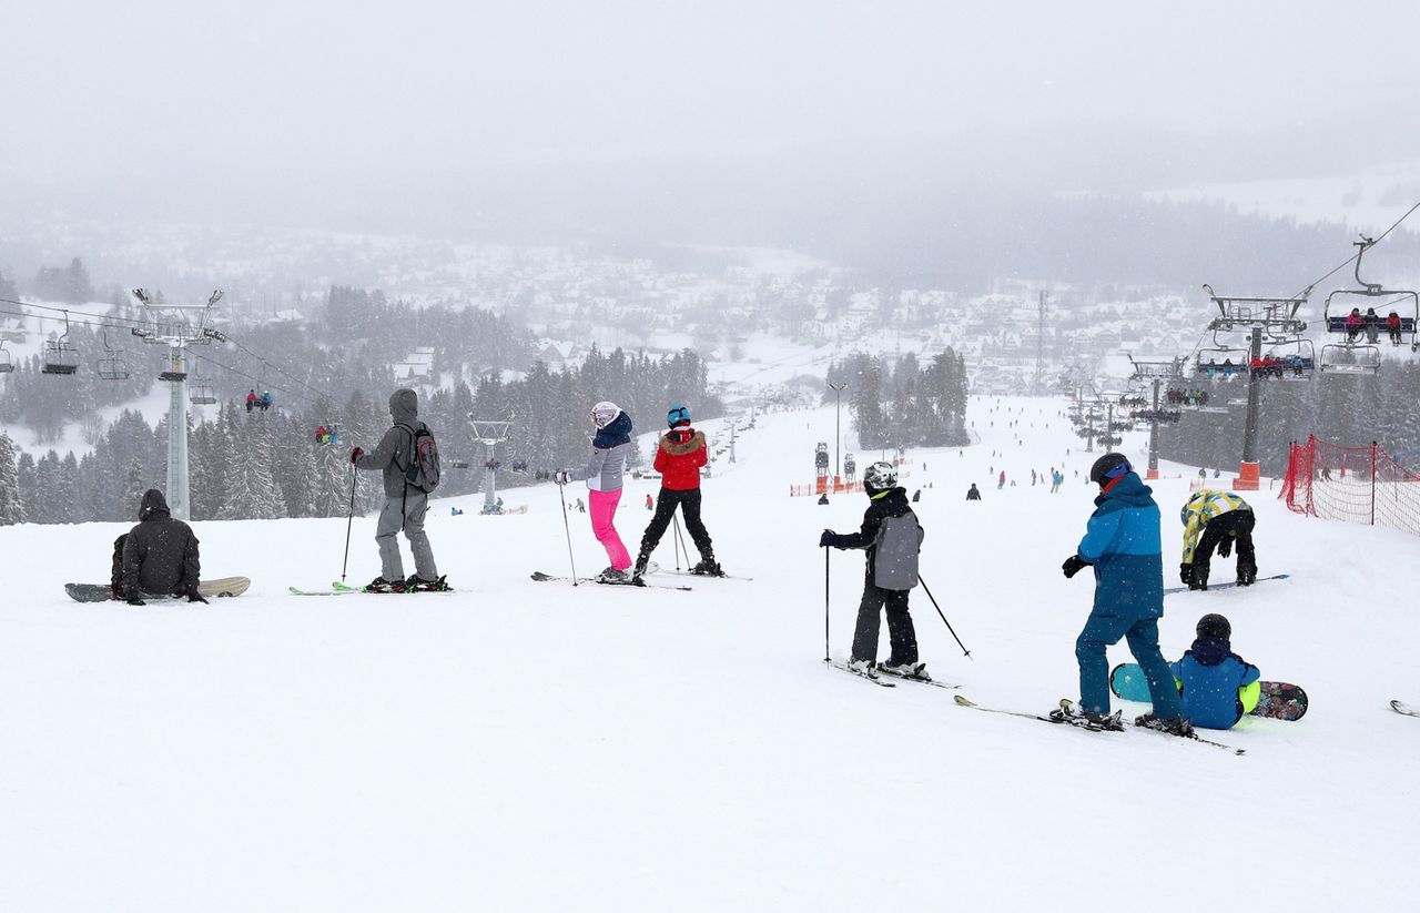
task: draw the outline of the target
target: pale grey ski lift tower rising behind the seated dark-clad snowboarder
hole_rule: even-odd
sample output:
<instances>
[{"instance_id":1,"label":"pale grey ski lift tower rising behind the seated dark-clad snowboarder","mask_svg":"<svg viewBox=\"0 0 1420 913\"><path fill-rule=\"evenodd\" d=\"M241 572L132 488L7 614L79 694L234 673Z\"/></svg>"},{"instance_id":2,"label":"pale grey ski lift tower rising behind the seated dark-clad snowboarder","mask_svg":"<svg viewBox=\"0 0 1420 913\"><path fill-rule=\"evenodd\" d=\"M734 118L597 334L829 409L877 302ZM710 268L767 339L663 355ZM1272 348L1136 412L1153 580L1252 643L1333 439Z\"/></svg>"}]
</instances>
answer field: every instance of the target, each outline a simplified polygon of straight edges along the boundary
<instances>
[{"instance_id":1,"label":"pale grey ski lift tower rising behind the seated dark-clad snowboarder","mask_svg":"<svg viewBox=\"0 0 1420 913\"><path fill-rule=\"evenodd\" d=\"M212 311L222 300L222 291L213 291L206 304L165 304L155 301L142 288L133 290L133 298L143 305L143 325L132 334L143 342L168 346L168 369L158 375L159 381L172 385L168 399L168 507L179 520L192 520L192 501L187 491L187 363L185 352L192 345L212 345L212 341L226 342L227 338L213 329Z\"/></svg>"}]
</instances>

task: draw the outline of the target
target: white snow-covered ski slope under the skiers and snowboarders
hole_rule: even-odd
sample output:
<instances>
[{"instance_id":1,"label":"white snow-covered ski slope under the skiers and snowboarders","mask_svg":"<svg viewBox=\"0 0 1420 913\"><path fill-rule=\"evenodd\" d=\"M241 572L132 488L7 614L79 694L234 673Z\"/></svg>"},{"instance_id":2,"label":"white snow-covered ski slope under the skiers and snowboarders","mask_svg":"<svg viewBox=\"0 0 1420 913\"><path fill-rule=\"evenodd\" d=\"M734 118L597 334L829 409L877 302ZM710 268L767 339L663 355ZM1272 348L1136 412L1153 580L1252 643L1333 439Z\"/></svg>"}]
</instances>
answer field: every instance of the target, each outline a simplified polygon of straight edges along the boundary
<instances>
[{"instance_id":1,"label":"white snow-covered ski slope under the skiers and snowboarders","mask_svg":"<svg viewBox=\"0 0 1420 913\"><path fill-rule=\"evenodd\" d=\"M920 591L913 615L940 679L1044 711L1076 689L1092 582L1059 562L1092 457L1062 403L993 406L973 399L980 446L914 452L906 480L932 484L923 574L973 660ZM207 574L251 575L246 596L85 606L60 584L104 579L122 527L0 530L0 910L1413 907L1420 720L1386 707L1420 700L1413 538L1257 497L1261 572L1292 579L1169 598L1170 657L1223 611L1240 653L1311 694L1301 723L1218 736L1245 757L984 714L824 667L815 542L863 498L787 493L832 423L777 413L741 436L706 521L754 581L689 594L528 581L567 567L550 486L514 493L525 515L437 504L450 595L288 596L339 575L345 524L251 521L197 528ZM1018 487L987 486L1003 464ZM1032 464L1064 464L1062 491L1031 487ZM623 497L632 550L650 490ZM1187 480L1156 491L1172 552ZM578 571L602 567L586 517L571 528ZM354 579L378 571L372 534L356 520ZM843 656L862 559L831 561Z\"/></svg>"}]
</instances>

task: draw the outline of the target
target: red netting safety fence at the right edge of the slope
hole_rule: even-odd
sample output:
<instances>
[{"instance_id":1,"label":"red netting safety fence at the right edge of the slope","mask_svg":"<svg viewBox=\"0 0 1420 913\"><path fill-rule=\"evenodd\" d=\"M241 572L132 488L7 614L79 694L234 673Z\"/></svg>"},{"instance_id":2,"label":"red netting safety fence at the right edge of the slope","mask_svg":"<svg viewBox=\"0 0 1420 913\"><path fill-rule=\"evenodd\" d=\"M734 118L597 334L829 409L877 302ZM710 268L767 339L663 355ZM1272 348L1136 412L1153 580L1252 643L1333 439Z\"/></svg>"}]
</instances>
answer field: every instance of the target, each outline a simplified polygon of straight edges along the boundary
<instances>
[{"instance_id":1,"label":"red netting safety fence at the right edge of the slope","mask_svg":"<svg viewBox=\"0 0 1420 913\"><path fill-rule=\"evenodd\" d=\"M1287 507L1308 517L1420 535L1420 476L1372 443L1343 447L1315 434L1294 443L1282 481Z\"/></svg>"}]
</instances>

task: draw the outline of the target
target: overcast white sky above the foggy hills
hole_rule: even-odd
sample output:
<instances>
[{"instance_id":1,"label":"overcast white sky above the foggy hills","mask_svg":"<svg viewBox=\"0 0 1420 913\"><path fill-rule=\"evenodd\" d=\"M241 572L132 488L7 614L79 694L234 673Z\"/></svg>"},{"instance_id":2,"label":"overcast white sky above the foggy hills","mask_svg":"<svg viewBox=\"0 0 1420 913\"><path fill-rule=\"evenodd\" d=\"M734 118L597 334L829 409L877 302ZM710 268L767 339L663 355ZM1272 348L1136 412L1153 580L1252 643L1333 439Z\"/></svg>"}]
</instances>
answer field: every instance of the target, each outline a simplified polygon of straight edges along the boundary
<instances>
[{"instance_id":1,"label":"overcast white sky above the foggy hills","mask_svg":"<svg viewBox=\"0 0 1420 913\"><path fill-rule=\"evenodd\" d=\"M1417 34L1400 0L17 0L0 7L0 195L339 197L490 165L733 172L1096 124L1110 146L1136 128L1316 146L1360 129L1358 99L1382 131L1414 128Z\"/></svg>"}]
</instances>

